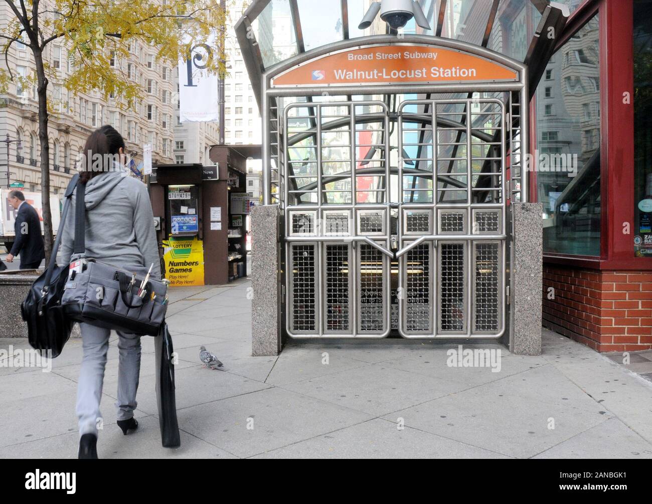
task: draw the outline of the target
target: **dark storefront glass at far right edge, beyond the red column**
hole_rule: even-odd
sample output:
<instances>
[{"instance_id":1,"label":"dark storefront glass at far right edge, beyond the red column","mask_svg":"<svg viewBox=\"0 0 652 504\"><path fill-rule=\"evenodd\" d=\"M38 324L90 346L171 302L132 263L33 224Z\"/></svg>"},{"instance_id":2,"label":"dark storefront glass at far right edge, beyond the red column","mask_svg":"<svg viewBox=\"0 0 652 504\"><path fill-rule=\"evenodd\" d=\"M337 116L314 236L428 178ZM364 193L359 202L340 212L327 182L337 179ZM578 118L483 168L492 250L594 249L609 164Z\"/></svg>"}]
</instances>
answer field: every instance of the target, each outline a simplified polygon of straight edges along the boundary
<instances>
[{"instance_id":1,"label":"dark storefront glass at far right edge, beyond the red column","mask_svg":"<svg viewBox=\"0 0 652 504\"><path fill-rule=\"evenodd\" d=\"M634 1L634 255L652 257L652 1Z\"/></svg>"}]
</instances>

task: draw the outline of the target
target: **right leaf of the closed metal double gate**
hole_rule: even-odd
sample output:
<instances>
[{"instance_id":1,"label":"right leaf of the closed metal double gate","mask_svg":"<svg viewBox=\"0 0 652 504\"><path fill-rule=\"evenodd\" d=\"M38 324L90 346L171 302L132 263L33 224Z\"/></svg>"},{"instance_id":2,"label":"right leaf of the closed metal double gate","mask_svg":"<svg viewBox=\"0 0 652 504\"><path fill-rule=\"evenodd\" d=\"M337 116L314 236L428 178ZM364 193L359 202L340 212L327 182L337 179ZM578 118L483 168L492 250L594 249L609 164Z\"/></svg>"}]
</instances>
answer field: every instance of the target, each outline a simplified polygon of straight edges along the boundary
<instances>
[{"instance_id":1,"label":"right leaf of the closed metal double gate","mask_svg":"<svg viewBox=\"0 0 652 504\"><path fill-rule=\"evenodd\" d=\"M415 105L430 111L429 126L406 117ZM503 334L504 124L500 100L414 100L399 107L398 148L406 156L398 164L396 252L403 337ZM406 168L419 161L431 161L432 170Z\"/></svg>"}]
</instances>

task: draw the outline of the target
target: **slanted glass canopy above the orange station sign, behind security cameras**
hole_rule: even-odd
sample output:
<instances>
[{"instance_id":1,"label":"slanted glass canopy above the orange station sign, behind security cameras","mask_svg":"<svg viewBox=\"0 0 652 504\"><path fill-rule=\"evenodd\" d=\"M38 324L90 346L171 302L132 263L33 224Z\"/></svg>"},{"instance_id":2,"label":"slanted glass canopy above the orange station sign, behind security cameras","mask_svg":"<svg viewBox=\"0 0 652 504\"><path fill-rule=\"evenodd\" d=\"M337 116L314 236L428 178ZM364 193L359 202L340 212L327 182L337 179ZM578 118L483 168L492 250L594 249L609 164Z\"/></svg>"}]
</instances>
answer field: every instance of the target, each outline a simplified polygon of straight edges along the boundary
<instances>
[{"instance_id":1,"label":"slanted glass canopy above the orange station sign, behind security cameras","mask_svg":"<svg viewBox=\"0 0 652 504\"><path fill-rule=\"evenodd\" d=\"M585 0L562 0L573 12ZM389 29L378 18L367 29L358 25L372 0L254 0L244 13L257 34L265 68L293 55L332 42L381 35ZM430 30L414 20L406 34L436 35L484 45L524 61L548 0L420 0ZM250 33L248 37L251 40Z\"/></svg>"}]
</instances>

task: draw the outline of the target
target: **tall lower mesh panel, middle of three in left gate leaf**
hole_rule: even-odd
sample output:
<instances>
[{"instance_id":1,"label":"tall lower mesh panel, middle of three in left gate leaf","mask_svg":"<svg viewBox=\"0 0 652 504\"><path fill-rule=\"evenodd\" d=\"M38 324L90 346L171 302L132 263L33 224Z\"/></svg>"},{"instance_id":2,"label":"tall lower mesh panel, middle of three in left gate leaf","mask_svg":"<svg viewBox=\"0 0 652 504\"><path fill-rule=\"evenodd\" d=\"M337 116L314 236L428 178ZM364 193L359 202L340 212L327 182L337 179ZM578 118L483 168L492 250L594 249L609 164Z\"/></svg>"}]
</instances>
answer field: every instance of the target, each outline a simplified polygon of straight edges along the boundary
<instances>
[{"instance_id":1,"label":"tall lower mesh panel, middle of three in left gate leaf","mask_svg":"<svg viewBox=\"0 0 652 504\"><path fill-rule=\"evenodd\" d=\"M326 329L349 329L348 245L326 245Z\"/></svg>"}]
</instances>

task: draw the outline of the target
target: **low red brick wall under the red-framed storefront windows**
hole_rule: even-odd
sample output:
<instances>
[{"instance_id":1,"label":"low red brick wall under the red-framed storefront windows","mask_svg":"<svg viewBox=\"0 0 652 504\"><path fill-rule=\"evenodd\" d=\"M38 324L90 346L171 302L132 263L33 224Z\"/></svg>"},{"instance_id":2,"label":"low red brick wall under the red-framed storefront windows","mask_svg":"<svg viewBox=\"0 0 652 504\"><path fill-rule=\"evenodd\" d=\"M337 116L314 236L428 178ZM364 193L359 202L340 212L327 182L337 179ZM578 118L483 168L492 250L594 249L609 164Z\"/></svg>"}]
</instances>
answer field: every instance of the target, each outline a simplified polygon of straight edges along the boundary
<instances>
[{"instance_id":1,"label":"low red brick wall under the red-framed storefront windows","mask_svg":"<svg viewBox=\"0 0 652 504\"><path fill-rule=\"evenodd\" d=\"M652 348L652 272L544 264L543 326L598 352Z\"/></svg>"}]
</instances>

